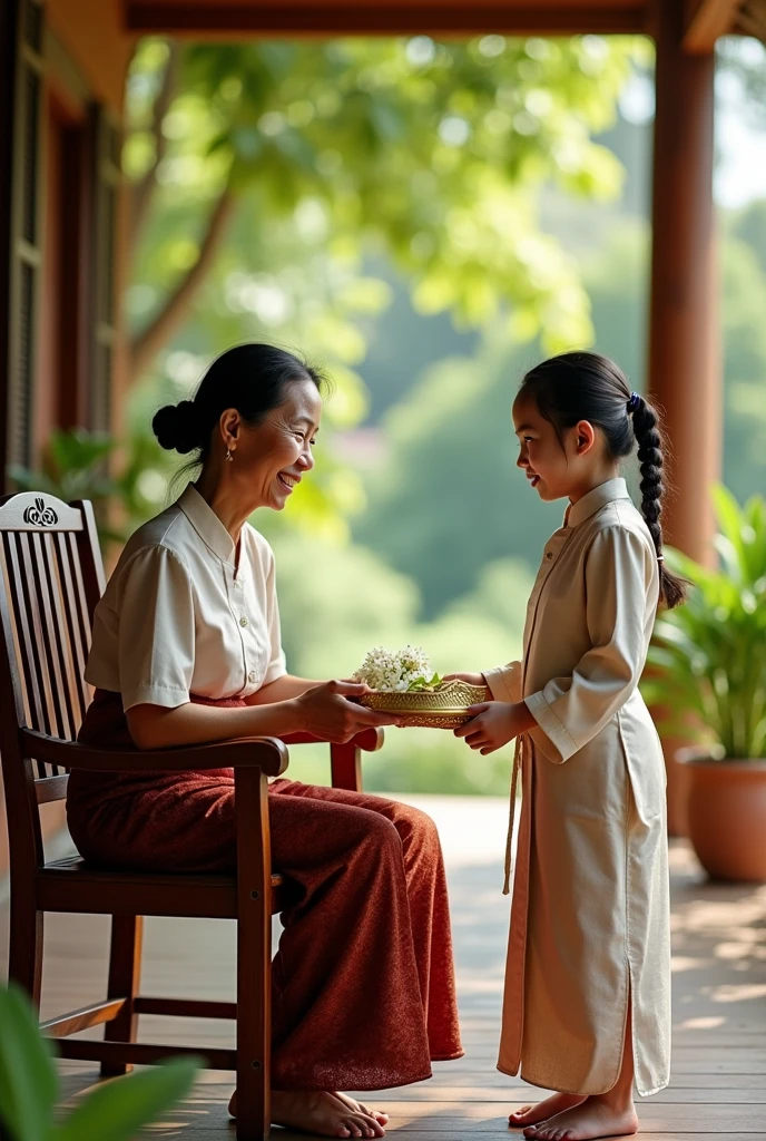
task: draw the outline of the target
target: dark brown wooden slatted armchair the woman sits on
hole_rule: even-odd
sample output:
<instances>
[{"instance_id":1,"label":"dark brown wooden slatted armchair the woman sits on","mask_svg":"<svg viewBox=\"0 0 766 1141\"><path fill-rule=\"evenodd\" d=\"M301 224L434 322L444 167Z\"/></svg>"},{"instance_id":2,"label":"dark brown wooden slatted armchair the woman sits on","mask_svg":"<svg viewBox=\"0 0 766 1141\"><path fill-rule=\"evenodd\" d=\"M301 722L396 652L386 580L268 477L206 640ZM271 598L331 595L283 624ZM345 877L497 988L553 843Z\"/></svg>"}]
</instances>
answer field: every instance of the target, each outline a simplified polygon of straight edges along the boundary
<instances>
[{"instance_id":1,"label":"dark brown wooden slatted armchair the woman sits on","mask_svg":"<svg viewBox=\"0 0 766 1141\"><path fill-rule=\"evenodd\" d=\"M140 752L76 743L91 697L83 681L104 568L91 504L23 493L0 500L0 756L10 841L9 976L39 1006L44 912L112 916L107 995L42 1023L64 1058L100 1062L103 1075L173 1054L202 1054L211 1069L236 1070L237 1138L269 1133L271 915L290 883L271 868L267 777L287 768L285 742L237 739ZM288 738L300 744L308 736ZM360 787L360 750L381 730L331 746L335 787ZM80 858L46 864L39 806L66 796L68 770L188 770L234 767L236 875L117 873ZM236 1002L138 993L142 916L237 921ZM140 1014L236 1020L236 1050L137 1042ZM68 1035L105 1023L104 1041Z\"/></svg>"}]
</instances>

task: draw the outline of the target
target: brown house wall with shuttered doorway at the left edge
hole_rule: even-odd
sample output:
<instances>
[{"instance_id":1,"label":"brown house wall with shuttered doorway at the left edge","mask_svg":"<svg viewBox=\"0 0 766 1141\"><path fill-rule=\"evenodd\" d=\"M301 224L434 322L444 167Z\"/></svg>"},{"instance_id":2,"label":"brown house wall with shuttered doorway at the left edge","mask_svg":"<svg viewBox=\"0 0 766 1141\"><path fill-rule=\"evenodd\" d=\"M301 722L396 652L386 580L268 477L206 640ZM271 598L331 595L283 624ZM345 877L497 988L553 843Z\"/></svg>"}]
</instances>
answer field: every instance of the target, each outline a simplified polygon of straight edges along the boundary
<instances>
[{"instance_id":1,"label":"brown house wall with shuttered doorway at the left edge","mask_svg":"<svg viewBox=\"0 0 766 1141\"><path fill-rule=\"evenodd\" d=\"M113 428L122 356L112 301L124 249L116 236L124 216L120 124L135 42L121 27L120 0L2 3L0 157L13 193L3 199L10 225L0 242L0 404L9 424L0 471L6 455L36 468L54 428ZM35 70L34 114L22 66ZM31 275L33 289L24 290ZM50 835L64 806L41 815ZM7 863L0 784L0 876Z\"/></svg>"}]
</instances>

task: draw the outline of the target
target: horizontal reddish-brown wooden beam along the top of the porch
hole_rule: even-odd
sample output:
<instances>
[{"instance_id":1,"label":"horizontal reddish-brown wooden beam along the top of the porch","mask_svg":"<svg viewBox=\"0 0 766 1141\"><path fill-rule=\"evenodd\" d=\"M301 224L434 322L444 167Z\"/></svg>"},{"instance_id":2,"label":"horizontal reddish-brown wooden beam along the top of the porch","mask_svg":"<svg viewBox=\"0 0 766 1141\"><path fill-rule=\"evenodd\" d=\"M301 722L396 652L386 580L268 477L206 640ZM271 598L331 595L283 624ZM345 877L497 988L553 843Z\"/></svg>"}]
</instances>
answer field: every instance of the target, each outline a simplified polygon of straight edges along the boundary
<instances>
[{"instance_id":1,"label":"horizontal reddish-brown wooden beam along the top of the porch","mask_svg":"<svg viewBox=\"0 0 766 1141\"><path fill-rule=\"evenodd\" d=\"M328 2L266 3L201 2L179 6L172 0L127 0L125 29L140 34L203 34L205 39L241 35L578 35L633 34L646 31L646 0L605 5L528 0L523 6L430 2L391 3L372 0L348 5Z\"/></svg>"}]
</instances>

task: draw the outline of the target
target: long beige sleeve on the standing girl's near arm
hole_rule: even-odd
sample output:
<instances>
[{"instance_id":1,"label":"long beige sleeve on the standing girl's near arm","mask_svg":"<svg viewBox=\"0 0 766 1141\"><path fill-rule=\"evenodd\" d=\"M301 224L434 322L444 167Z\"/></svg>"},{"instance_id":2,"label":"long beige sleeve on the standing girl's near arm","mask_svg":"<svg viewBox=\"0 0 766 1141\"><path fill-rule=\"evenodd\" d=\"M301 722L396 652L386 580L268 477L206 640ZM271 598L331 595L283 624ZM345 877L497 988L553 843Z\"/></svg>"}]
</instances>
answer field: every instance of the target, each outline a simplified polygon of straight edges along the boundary
<instances>
[{"instance_id":1,"label":"long beige sleeve on the standing girl's near arm","mask_svg":"<svg viewBox=\"0 0 766 1141\"><path fill-rule=\"evenodd\" d=\"M537 721L530 736L555 763L592 741L628 699L644 667L646 544L626 527L600 532L585 565L586 620L592 649L574 671L525 697Z\"/></svg>"}]
</instances>

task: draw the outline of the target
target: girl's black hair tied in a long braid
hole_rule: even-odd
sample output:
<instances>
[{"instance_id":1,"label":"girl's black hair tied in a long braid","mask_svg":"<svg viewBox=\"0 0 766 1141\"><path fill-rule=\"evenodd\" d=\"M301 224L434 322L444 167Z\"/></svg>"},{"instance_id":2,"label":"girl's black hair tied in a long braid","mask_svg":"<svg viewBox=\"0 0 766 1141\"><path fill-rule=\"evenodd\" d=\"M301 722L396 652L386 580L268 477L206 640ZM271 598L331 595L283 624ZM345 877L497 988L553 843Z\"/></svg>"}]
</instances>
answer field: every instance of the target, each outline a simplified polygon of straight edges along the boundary
<instances>
[{"instance_id":1,"label":"girl's black hair tied in a long braid","mask_svg":"<svg viewBox=\"0 0 766 1141\"><path fill-rule=\"evenodd\" d=\"M562 353L527 373L521 386L548 420L563 446L562 435L580 420L604 434L614 460L630 455L638 445L641 512L654 542L660 565L660 599L668 609L686 598L687 583L668 570L662 553L662 435L652 405L631 393L625 373L597 353Z\"/></svg>"}]
</instances>

